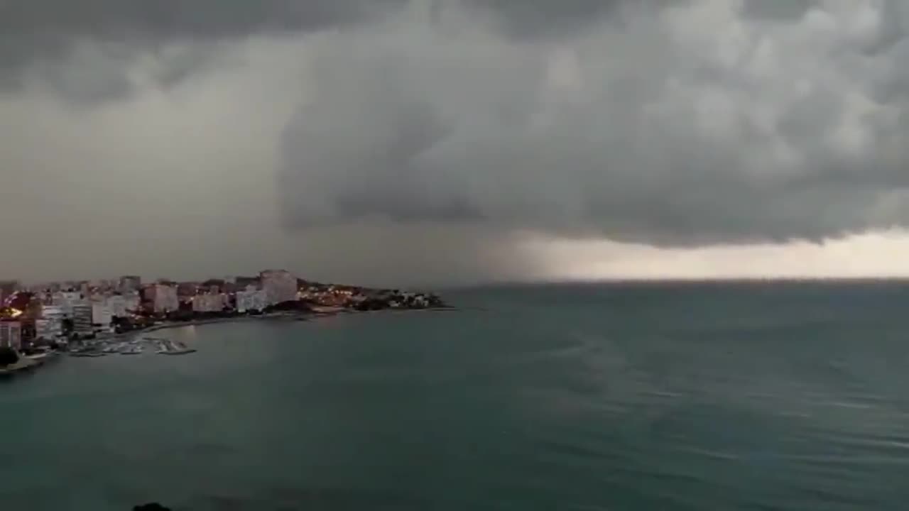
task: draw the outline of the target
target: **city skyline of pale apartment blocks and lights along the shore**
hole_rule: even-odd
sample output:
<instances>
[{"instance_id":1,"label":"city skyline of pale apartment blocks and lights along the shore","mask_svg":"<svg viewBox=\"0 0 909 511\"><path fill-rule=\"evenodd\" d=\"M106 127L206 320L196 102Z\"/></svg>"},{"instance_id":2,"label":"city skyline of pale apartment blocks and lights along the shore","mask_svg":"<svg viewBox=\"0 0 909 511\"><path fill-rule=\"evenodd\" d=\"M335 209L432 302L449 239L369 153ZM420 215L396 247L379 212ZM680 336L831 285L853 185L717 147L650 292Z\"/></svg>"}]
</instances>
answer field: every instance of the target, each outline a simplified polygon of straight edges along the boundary
<instances>
[{"instance_id":1,"label":"city skyline of pale apartment blocks and lights along the shore","mask_svg":"<svg viewBox=\"0 0 909 511\"><path fill-rule=\"evenodd\" d=\"M305 320L314 314L445 306L432 294L307 282L274 268L256 276L195 282L142 282L139 276L129 275L97 282L49 283L38 288L7 280L0 281L0 288L0 348L11 348L14 354L71 341L95 341L99 336L110 340L136 330L185 326L194 321L204 324L250 317ZM123 346L107 348L113 353L122 351ZM191 353L185 346L160 349ZM141 352L136 348L127 355Z\"/></svg>"}]
</instances>

